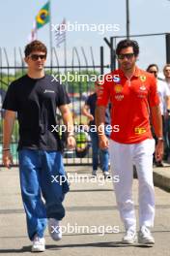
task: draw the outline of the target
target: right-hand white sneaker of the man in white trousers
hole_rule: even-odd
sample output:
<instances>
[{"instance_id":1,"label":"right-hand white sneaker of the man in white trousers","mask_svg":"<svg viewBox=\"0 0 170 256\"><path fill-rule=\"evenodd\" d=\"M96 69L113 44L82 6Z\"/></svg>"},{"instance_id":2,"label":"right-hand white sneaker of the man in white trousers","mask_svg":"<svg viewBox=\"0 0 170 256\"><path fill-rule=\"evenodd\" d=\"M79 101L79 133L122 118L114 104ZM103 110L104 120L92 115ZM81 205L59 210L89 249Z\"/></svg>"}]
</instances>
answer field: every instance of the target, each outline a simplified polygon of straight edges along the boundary
<instances>
[{"instance_id":1,"label":"right-hand white sneaker of the man in white trousers","mask_svg":"<svg viewBox=\"0 0 170 256\"><path fill-rule=\"evenodd\" d=\"M146 226L142 226L138 233L138 242L142 244L155 244L155 239L151 235L151 231Z\"/></svg>"}]
</instances>

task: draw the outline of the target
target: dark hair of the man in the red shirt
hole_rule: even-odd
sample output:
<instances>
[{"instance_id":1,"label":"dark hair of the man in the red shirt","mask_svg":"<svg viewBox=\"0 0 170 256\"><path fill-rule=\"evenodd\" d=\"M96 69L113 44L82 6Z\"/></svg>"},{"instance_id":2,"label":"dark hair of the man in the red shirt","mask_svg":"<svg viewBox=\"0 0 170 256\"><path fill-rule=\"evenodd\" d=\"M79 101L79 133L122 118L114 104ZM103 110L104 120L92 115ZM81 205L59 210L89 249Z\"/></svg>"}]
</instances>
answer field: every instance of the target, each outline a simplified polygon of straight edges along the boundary
<instances>
[{"instance_id":1,"label":"dark hair of the man in the red shirt","mask_svg":"<svg viewBox=\"0 0 170 256\"><path fill-rule=\"evenodd\" d=\"M139 54L139 46L138 43L134 40L122 40L118 43L117 48L116 48L116 54L119 55L121 50L123 48L133 48L134 56L137 56Z\"/></svg>"}]
</instances>

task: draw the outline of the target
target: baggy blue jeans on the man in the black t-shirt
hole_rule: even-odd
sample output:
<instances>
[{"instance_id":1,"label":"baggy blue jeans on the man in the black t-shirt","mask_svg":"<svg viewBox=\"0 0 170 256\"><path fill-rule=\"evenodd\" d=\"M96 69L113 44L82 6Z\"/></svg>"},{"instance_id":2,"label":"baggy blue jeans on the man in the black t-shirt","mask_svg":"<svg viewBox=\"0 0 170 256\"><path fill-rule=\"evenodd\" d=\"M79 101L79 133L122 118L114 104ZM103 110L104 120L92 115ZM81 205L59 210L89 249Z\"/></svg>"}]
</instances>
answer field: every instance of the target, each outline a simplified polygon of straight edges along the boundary
<instances>
[{"instance_id":1,"label":"baggy blue jeans on the man in the black t-shirt","mask_svg":"<svg viewBox=\"0 0 170 256\"><path fill-rule=\"evenodd\" d=\"M59 177L65 180L66 176L62 154L58 151L22 149L18 151L18 159L28 236L30 240L36 234L42 238L46 218L61 220L65 216L62 202L69 185L67 180L59 180Z\"/></svg>"}]
</instances>

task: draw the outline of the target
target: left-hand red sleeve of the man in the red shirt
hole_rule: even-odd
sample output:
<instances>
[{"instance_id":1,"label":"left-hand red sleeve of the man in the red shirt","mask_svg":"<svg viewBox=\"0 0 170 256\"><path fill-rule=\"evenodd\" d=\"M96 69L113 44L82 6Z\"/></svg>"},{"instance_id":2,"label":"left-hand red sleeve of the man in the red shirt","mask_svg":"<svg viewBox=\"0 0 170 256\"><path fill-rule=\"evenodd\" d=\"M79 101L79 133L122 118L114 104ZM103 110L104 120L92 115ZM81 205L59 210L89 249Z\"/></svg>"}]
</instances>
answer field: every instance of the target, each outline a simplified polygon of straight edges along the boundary
<instances>
[{"instance_id":1,"label":"left-hand red sleeve of the man in the red shirt","mask_svg":"<svg viewBox=\"0 0 170 256\"><path fill-rule=\"evenodd\" d=\"M106 80L106 76L103 83L99 84L99 90L97 92L97 106L107 106L110 99L110 82Z\"/></svg>"}]
</instances>

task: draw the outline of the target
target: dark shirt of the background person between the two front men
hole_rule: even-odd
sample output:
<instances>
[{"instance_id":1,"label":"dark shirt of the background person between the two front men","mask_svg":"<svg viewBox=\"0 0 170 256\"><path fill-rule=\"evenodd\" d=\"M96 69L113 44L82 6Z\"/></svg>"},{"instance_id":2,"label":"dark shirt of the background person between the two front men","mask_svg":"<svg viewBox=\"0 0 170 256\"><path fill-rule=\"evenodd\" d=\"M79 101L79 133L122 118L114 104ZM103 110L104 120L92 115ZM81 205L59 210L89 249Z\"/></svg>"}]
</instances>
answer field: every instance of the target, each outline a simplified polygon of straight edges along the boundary
<instances>
[{"instance_id":1,"label":"dark shirt of the background person between the two front men","mask_svg":"<svg viewBox=\"0 0 170 256\"><path fill-rule=\"evenodd\" d=\"M89 106L90 108L90 113L95 117L95 109L96 109L96 103L97 103L97 93L93 93L91 94L87 100L86 100L86 105ZM105 124L110 124L110 111L109 111L109 107L106 109L105 112ZM95 120L90 121L90 125L94 125L95 124Z\"/></svg>"}]
</instances>

